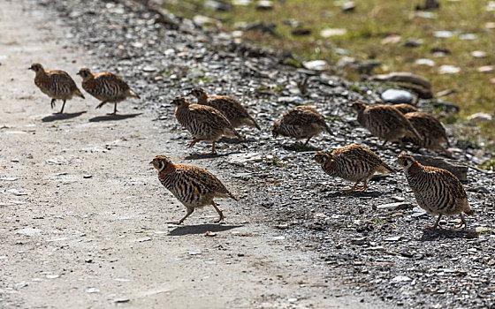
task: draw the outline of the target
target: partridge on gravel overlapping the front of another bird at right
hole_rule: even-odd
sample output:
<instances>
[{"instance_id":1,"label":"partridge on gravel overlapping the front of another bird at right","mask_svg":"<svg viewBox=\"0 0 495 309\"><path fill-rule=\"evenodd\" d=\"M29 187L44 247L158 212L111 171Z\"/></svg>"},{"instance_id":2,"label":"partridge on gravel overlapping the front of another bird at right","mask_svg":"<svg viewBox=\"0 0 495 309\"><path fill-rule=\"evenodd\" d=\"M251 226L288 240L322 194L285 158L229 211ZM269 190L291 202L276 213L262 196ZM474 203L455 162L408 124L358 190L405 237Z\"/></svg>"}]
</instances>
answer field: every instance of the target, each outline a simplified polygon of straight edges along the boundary
<instances>
[{"instance_id":1,"label":"partridge on gravel overlapping the front of another bird at right","mask_svg":"<svg viewBox=\"0 0 495 309\"><path fill-rule=\"evenodd\" d=\"M402 138L405 136L422 139L406 117L390 105L367 106L354 102L353 109L357 111L357 121L363 127L378 138L385 139L383 145L387 141L398 141L403 148Z\"/></svg>"}]
</instances>

